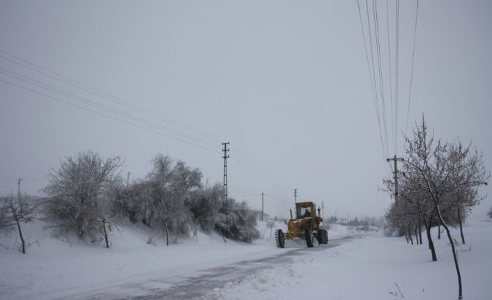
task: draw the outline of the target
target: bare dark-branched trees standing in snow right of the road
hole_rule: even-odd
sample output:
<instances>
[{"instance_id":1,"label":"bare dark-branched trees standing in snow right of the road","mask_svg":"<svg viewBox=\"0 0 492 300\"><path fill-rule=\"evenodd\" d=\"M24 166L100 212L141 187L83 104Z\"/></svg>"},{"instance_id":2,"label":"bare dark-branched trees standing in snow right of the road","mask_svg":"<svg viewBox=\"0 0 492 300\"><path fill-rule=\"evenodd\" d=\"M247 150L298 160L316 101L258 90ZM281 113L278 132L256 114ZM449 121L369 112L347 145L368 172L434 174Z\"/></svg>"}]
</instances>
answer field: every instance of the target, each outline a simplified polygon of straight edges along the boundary
<instances>
[{"instance_id":1,"label":"bare dark-branched trees standing in snow right of the road","mask_svg":"<svg viewBox=\"0 0 492 300\"><path fill-rule=\"evenodd\" d=\"M397 176L398 191L392 180L385 180L387 191L395 195L395 202L387 210L387 223L412 244L413 233L417 244L422 244L421 228L424 227L433 261L437 260L437 255L431 228L438 226L440 238L440 226L443 226L452 247L461 299L461 274L449 226L459 226L461 242L465 244L463 221L470 209L483 199L478 188L487 184L490 177L482 154L472 150L471 144L463 145L459 140L435 140L422 118L413 138L406 137L406 157Z\"/></svg>"}]
</instances>

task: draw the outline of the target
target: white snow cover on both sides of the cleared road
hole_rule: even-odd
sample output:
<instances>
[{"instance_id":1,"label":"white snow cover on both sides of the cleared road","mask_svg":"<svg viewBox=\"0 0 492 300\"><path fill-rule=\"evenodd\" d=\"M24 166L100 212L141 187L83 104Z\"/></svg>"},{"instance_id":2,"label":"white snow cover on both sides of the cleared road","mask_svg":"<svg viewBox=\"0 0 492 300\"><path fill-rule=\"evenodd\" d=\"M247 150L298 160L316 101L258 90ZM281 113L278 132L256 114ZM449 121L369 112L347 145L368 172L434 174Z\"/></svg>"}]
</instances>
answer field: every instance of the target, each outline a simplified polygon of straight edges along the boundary
<instances>
[{"instance_id":1,"label":"white snow cover on both sides of the cleared road","mask_svg":"<svg viewBox=\"0 0 492 300\"><path fill-rule=\"evenodd\" d=\"M147 244L148 231L122 227L112 248L69 243L49 237L37 221L24 225L29 241L38 241L22 255L15 232L0 236L0 299L98 299L105 290L114 297L145 296L195 276L198 271L233 265L305 248L294 242L275 247L266 232L254 244L198 235L165 246ZM466 245L459 246L465 299L489 299L492 294L492 223L470 221ZM445 236L436 242L438 262L431 262L425 245L410 246L403 238L356 235L344 226L330 230L335 241L353 239L333 248L295 253L286 264L268 267L241 280L210 288L204 299L456 299L456 274ZM433 234L436 236L436 232ZM454 232L454 236L456 232ZM424 240L425 242L425 240ZM395 284L396 283L396 284ZM398 287L399 290L398 290ZM145 287L142 289L142 287ZM119 296L118 296L119 295Z\"/></svg>"}]
</instances>

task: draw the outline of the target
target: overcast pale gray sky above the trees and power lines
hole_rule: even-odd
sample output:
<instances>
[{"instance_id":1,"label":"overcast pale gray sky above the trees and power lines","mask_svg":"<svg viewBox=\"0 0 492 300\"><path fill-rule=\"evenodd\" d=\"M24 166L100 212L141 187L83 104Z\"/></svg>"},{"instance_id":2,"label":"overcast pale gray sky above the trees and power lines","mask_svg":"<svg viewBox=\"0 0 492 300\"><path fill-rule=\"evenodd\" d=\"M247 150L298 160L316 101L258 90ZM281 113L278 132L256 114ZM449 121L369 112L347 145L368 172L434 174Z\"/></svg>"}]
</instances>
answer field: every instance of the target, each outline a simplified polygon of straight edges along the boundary
<instances>
[{"instance_id":1,"label":"overcast pale gray sky above the trees and power lines","mask_svg":"<svg viewBox=\"0 0 492 300\"><path fill-rule=\"evenodd\" d=\"M389 26L386 1L377 3L389 98L387 28L394 63L395 1L388 1ZM416 3L400 3L398 113L391 113L391 99L385 102L389 155L403 155ZM472 140L490 170L492 2L419 5L409 127L424 113L436 136ZM2 0L0 41L2 194L17 191L19 177L24 191L38 194L49 167L89 149L121 155L121 173L131 172L132 180L164 153L200 168L209 184L222 182L221 142L229 141L229 194L259 208L263 191L267 213L286 216L294 188L298 200L324 201L329 215L379 216L392 201L377 189L389 168L355 0ZM195 145L169 138L163 127ZM482 191L492 194L490 186ZM491 203L479 208L481 215Z\"/></svg>"}]
</instances>

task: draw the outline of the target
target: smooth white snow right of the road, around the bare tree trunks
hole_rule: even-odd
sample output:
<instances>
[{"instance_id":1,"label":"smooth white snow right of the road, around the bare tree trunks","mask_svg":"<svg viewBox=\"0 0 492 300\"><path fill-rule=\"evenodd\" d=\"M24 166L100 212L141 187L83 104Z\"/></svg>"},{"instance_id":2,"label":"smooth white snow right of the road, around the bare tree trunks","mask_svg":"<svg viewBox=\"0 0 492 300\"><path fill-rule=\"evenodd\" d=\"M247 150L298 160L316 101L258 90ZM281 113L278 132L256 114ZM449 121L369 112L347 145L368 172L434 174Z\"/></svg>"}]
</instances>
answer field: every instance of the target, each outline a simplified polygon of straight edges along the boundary
<instances>
[{"instance_id":1,"label":"smooth white snow right of the road, around the bare tree trunks","mask_svg":"<svg viewBox=\"0 0 492 300\"><path fill-rule=\"evenodd\" d=\"M434 229L438 262L431 262L425 238L411 246L404 238L366 236L227 283L213 299L458 299L447 237L438 240ZM464 231L468 242L458 246L464 299L491 299L492 222L472 220Z\"/></svg>"}]
</instances>

